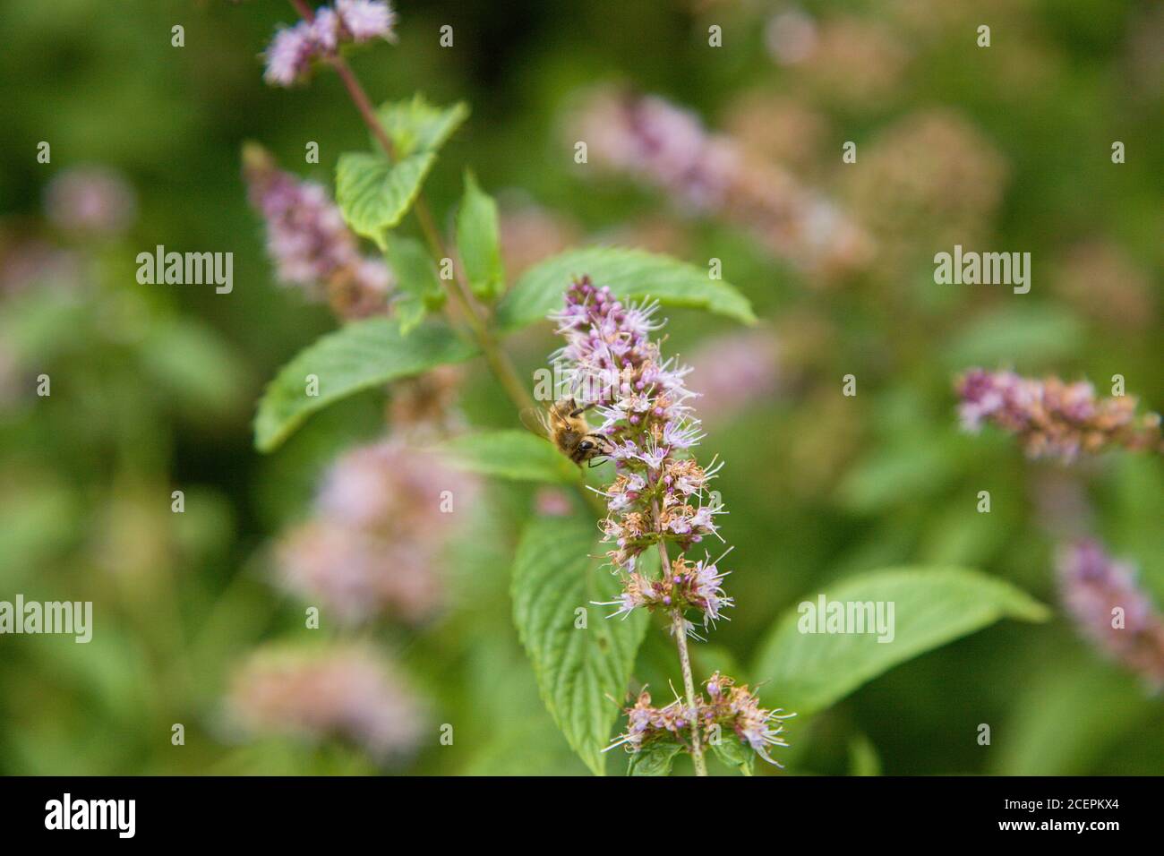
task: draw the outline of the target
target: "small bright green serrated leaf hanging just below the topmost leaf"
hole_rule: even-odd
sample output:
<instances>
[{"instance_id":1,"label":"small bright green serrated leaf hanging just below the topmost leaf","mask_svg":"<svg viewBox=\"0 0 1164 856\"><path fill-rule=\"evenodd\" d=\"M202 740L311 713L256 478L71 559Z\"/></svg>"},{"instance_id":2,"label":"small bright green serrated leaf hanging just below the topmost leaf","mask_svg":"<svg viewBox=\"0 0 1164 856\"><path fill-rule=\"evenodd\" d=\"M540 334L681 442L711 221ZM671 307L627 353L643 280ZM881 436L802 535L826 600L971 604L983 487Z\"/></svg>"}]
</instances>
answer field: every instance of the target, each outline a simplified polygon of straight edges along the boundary
<instances>
[{"instance_id":1,"label":"small bright green serrated leaf hanging just below the topmost leaf","mask_svg":"<svg viewBox=\"0 0 1164 856\"><path fill-rule=\"evenodd\" d=\"M436 155L410 155L397 163L363 151L340 155L335 200L348 226L384 248L384 233L412 207Z\"/></svg>"}]
</instances>

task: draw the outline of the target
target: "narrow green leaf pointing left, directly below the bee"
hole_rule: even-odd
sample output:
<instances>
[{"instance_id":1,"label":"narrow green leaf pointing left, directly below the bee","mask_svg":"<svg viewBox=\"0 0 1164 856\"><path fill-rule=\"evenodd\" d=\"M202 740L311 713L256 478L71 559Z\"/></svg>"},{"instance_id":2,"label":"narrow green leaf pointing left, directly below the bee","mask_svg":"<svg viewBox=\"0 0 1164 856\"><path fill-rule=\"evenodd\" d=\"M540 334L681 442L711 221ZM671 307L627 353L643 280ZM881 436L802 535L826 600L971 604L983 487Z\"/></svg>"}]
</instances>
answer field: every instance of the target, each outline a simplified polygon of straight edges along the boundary
<instances>
[{"instance_id":1,"label":"narrow green leaf pointing left, directly below the bee","mask_svg":"<svg viewBox=\"0 0 1164 856\"><path fill-rule=\"evenodd\" d=\"M514 481L562 484L580 481L579 468L527 431L485 431L441 444L450 461L474 473Z\"/></svg>"}]
</instances>

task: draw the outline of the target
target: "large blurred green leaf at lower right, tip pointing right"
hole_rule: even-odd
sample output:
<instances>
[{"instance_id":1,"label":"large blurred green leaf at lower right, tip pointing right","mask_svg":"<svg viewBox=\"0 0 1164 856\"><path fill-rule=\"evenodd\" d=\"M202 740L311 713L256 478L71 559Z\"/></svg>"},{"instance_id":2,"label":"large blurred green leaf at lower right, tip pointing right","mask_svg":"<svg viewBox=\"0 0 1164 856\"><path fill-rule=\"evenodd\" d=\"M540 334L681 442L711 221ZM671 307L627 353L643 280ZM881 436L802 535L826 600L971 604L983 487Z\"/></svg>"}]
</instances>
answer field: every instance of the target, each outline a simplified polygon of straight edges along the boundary
<instances>
[{"instance_id":1,"label":"large blurred green leaf at lower right, tip pointing right","mask_svg":"<svg viewBox=\"0 0 1164 856\"><path fill-rule=\"evenodd\" d=\"M801 606L776 623L753 674L772 681L773 701L809 714L839 701L900 663L981 630L1000 618L1045 621L1046 608L1008 582L964 568L892 568L844 580L829 602L893 603L893 638L876 632L801 632ZM810 595L815 611L818 595ZM886 616L888 615L886 608ZM887 634L888 636L888 634Z\"/></svg>"}]
</instances>

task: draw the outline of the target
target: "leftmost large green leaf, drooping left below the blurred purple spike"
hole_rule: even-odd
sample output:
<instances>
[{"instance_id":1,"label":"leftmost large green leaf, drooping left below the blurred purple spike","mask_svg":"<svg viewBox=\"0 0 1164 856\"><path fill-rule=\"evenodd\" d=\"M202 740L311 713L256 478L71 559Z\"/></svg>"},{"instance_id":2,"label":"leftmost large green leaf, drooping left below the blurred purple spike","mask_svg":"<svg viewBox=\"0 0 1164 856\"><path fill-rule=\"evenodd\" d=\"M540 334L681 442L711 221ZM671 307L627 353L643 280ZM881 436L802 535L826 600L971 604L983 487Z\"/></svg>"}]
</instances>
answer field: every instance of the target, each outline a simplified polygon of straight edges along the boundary
<instances>
[{"instance_id":1,"label":"leftmost large green leaf, drooping left below the blurred purple spike","mask_svg":"<svg viewBox=\"0 0 1164 856\"><path fill-rule=\"evenodd\" d=\"M301 351L268 384L255 415L255 447L270 452L313 412L354 392L463 362L475 353L435 321L407 338L386 316L348 324ZM319 379L318 396L307 395L307 375Z\"/></svg>"}]
</instances>

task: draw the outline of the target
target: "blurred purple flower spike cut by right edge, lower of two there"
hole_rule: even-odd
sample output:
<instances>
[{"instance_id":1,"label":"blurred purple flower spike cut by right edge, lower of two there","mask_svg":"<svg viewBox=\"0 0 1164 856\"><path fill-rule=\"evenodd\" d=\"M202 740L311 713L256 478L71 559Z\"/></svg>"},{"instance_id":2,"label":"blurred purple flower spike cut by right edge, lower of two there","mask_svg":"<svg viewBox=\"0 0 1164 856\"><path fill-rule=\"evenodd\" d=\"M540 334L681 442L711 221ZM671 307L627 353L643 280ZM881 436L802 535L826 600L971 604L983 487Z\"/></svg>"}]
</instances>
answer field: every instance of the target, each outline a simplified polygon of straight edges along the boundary
<instances>
[{"instance_id":1,"label":"blurred purple flower spike cut by right edge, lower of two there","mask_svg":"<svg viewBox=\"0 0 1164 856\"><path fill-rule=\"evenodd\" d=\"M1084 540L1062 551L1057 571L1080 632L1150 687L1164 688L1164 615L1136 583L1134 570Z\"/></svg>"}]
</instances>

